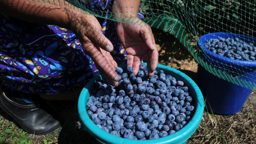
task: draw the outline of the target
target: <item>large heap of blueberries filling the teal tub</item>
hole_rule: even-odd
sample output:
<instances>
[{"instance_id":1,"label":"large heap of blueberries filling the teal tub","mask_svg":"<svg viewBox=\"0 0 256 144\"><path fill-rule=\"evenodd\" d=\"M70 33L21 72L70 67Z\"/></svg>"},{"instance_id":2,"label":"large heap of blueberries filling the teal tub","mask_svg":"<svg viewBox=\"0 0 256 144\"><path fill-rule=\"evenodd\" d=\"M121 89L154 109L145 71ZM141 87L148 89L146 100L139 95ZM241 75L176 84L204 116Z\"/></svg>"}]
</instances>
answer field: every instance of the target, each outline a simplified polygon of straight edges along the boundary
<instances>
[{"instance_id":1,"label":"large heap of blueberries filling the teal tub","mask_svg":"<svg viewBox=\"0 0 256 144\"><path fill-rule=\"evenodd\" d=\"M90 119L102 130L132 140L151 140L173 134L194 115L192 97L184 82L163 70L149 77L146 65L137 76L132 67L118 67L119 86L105 80L95 83L88 99Z\"/></svg>"}]
</instances>

